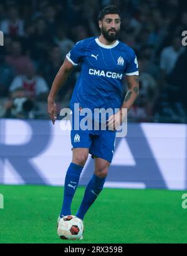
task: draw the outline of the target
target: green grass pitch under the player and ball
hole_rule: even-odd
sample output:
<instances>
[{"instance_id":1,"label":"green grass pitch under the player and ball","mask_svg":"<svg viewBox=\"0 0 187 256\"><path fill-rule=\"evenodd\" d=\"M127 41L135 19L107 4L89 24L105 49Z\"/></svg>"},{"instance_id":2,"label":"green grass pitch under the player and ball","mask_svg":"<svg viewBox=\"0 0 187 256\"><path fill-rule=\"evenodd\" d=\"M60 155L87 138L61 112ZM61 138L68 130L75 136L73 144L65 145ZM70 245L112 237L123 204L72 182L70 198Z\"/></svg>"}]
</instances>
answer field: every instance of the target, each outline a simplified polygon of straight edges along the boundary
<instances>
[{"instance_id":1,"label":"green grass pitch under the player and ball","mask_svg":"<svg viewBox=\"0 0 187 256\"><path fill-rule=\"evenodd\" d=\"M56 226L63 188L0 185L0 243L186 243L185 191L104 188L84 219L84 240L60 240ZM79 207L79 187L72 214Z\"/></svg>"}]
</instances>

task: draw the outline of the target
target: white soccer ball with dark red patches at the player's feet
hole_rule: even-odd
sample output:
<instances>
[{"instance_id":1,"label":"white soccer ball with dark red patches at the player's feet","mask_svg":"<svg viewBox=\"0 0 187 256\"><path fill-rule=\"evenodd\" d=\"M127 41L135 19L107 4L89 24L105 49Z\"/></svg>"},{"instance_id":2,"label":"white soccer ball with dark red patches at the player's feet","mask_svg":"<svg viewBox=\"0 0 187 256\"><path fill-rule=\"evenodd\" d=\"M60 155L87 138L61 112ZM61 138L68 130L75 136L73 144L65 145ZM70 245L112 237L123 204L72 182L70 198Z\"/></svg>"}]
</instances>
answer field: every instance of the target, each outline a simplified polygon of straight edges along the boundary
<instances>
[{"instance_id":1,"label":"white soccer ball with dark red patches at the player's feet","mask_svg":"<svg viewBox=\"0 0 187 256\"><path fill-rule=\"evenodd\" d=\"M60 219L57 233L61 239L79 240L84 233L84 225L80 218L67 215Z\"/></svg>"}]
</instances>

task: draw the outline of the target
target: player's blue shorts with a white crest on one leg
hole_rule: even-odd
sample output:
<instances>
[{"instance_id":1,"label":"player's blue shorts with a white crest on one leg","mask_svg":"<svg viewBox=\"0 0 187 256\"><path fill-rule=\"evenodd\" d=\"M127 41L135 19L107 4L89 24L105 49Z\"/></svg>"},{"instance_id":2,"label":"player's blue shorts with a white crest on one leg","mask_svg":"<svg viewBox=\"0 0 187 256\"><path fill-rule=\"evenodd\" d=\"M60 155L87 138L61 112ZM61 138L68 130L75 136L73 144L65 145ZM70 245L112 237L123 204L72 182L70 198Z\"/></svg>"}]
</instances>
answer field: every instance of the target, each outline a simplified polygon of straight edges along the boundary
<instances>
[{"instance_id":1,"label":"player's blue shorts with a white crest on one leg","mask_svg":"<svg viewBox=\"0 0 187 256\"><path fill-rule=\"evenodd\" d=\"M72 121L71 143L73 148L89 148L92 157L111 163L115 148L116 132L111 130L74 130Z\"/></svg>"}]
</instances>

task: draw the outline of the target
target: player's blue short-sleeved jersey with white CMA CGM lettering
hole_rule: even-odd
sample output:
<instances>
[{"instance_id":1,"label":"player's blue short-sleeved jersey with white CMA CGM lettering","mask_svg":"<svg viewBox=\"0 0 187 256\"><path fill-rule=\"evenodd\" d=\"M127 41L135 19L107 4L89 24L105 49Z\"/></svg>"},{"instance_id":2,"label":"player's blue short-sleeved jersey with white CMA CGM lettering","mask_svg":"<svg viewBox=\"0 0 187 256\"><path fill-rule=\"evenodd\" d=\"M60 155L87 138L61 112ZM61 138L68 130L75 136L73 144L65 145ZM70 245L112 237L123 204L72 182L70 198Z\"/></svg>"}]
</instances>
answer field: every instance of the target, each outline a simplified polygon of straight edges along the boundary
<instances>
[{"instance_id":1,"label":"player's blue short-sleeved jersey with white CMA CGM lettering","mask_svg":"<svg viewBox=\"0 0 187 256\"><path fill-rule=\"evenodd\" d=\"M92 37L79 41L66 58L76 66L81 64L81 72L70 101L81 108L120 108L122 106L123 78L138 75L135 52L127 44L116 41L105 45Z\"/></svg>"}]
</instances>

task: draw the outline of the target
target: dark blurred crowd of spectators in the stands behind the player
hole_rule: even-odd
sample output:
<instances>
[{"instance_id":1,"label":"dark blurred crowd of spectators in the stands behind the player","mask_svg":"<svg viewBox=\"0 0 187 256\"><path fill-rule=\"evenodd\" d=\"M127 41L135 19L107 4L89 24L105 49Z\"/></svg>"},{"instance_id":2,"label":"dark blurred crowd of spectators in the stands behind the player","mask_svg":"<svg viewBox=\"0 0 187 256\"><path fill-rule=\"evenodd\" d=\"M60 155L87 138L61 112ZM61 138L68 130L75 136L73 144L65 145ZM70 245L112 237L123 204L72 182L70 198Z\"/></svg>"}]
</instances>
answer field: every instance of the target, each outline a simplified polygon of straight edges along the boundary
<instances>
[{"instance_id":1,"label":"dark blurred crowd of spectators in the stands behind the player","mask_svg":"<svg viewBox=\"0 0 187 256\"><path fill-rule=\"evenodd\" d=\"M140 95L129 120L186 123L185 0L2 0L1 118L47 118L47 95L65 55L77 41L100 35L98 13L108 4L122 12L120 40L138 58ZM77 66L59 91L58 112L69 106L79 73Z\"/></svg>"}]
</instances>

